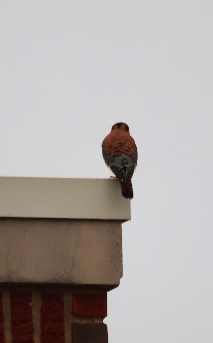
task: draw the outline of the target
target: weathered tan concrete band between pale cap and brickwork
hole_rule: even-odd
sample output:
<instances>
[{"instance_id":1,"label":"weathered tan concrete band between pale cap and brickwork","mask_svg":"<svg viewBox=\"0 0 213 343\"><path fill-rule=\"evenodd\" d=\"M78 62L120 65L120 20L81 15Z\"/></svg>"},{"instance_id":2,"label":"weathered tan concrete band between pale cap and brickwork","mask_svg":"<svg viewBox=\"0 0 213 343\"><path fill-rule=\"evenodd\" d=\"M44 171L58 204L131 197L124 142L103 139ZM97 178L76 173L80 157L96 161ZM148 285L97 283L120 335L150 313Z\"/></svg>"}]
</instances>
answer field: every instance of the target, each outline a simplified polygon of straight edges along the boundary
<instances>
[{"instance_id":1,"label":"weathered tan concrete band between pale cap and brickwork","mask_svg":"<svg viewBox=\"0 0 213 343\"><path fill-rule=\"evenodd\" d=\"M121 277L120 221L0 218L0 283L119 285Z\"/></svg>"}]
</instances>

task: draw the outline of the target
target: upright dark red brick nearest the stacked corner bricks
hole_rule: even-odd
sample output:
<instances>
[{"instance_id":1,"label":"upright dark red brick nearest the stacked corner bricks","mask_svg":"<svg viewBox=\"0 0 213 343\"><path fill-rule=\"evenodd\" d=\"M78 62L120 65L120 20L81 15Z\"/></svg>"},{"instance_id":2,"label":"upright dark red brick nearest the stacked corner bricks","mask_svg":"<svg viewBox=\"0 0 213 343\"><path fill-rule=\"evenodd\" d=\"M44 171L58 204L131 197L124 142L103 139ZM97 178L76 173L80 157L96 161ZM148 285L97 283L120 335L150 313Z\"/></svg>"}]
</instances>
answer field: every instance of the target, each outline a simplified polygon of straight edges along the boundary
<instances>
[{"instance_id":1,"label":"upright dark red brick nearest the stacked corner bricks","mask_svg":"<svg viewBox=\"0 0 213 343\"><path fill-rule=\"evenodd\" d=\"M41 343L64 343L63 293L41 293Z\"/></svg>"}]
</instances>

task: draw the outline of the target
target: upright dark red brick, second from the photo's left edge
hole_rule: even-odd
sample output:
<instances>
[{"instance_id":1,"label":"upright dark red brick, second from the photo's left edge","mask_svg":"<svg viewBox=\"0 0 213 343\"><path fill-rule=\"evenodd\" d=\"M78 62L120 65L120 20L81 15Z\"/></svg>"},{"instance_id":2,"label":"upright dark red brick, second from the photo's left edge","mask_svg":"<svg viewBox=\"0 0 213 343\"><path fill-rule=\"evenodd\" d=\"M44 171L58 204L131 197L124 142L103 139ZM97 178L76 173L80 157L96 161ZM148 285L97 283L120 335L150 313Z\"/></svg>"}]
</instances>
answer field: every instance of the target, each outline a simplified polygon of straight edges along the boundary
<instances>
[{"instance_id":1,"label":"upright dark red brick, second from the photo's left edge","mask_svg":"<svg viewBox=\"0 0 213 343\"><path fill-rule=\"evenodd\" d=\"M31 292L10 292L13 343L34 343L31 301Z\"/></svg>"}]
</instances>

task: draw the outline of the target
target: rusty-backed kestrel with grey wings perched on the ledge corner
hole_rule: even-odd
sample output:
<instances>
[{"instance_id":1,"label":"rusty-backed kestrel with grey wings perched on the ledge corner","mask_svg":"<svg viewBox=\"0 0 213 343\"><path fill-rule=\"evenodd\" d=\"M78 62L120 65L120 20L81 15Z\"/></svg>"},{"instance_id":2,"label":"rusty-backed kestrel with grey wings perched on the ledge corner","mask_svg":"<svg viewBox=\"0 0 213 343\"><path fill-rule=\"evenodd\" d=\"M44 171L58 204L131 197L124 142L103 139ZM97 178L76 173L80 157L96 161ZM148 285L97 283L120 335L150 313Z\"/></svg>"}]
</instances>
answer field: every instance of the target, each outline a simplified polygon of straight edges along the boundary
<instances>
[{"instance_id":1,"label":"rusty-backed kestrel with grey wings perched on the ledge corner","mask_svg":"<svg viewBox=\"0 0 213 343\"><path fill-rule=\"evenodd\" d=\"M124 198L133 199L131 178L137 165L138 153L134 139L125 123L113 125L112 131L102 143L102 154L106 165L121 184Z\"/></svg>"}]
</instances>

